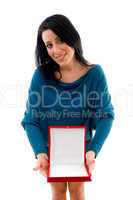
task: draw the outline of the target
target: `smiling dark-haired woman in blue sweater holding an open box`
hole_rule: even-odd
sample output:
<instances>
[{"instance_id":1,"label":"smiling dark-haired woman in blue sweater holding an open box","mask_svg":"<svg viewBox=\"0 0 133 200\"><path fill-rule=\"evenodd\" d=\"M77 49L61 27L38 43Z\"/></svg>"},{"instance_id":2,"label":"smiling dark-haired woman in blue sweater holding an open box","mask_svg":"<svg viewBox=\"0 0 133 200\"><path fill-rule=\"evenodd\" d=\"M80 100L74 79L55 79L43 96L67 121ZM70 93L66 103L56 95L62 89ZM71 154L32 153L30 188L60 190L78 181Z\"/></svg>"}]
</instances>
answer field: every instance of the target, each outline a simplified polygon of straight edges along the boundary
<instances>
[{"instance_id":1,"label":"smiling dark-haired woman in blue sweater holding an open box","mask_svg":"<svg viewBox=\"0 0 133 200\"><path fill-rule=\"evenodd\" d=\"M86 159L92 172L114 119L104 71L84 58L78 32L67 17L59 14L46 18L39 26L35 58L37 69L21 122L37 159L34 170L47 176L48 125L84 124ZM70 111L78 117L71 116ZM65 200L67 186L71 200L85 199L84 182L50 184L53 200Z\"/></svg>"}]
</instances>

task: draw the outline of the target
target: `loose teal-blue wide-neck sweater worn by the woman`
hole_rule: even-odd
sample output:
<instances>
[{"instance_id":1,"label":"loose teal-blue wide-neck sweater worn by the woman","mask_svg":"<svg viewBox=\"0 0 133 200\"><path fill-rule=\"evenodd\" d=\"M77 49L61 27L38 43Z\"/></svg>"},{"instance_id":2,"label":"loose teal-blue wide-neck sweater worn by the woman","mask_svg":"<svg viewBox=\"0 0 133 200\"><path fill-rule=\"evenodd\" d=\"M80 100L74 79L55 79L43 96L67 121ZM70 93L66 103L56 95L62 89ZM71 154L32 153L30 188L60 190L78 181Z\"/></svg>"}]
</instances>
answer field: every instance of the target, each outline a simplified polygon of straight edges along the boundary
<instances>
[{"instance_id":1,"label":"loose teal-blue wide-neck sweater worn by the woman","mask_svg":"<svg viewBox=\"0 0 133 200\"><path fill-rule=\"evenodd\" d=\"M49 125L85 125L86 151L92 150L97 156L113 119L111 96L100 65L72 83L45 80L39 68L34 71L21 125L35 158L48 153Z\"/></svg>"}]
</instances>

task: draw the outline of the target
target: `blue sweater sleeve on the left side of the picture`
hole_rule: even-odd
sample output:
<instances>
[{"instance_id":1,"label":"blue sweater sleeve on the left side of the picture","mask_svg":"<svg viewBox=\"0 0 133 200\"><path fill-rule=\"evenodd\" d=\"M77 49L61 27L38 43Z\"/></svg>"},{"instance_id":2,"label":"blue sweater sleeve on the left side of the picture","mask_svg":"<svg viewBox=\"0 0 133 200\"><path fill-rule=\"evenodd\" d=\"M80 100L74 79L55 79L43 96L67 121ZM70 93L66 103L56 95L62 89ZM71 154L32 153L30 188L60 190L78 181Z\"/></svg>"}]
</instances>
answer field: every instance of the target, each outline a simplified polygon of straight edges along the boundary
<instances>
[{"instance_id":1,"label":"blue sweater sleeve on the left side of the picture","mask_svg":"<svg viewBox=\"0 0 133 200\"><path fill-rule=\"evenodd\" d=\"M29 143L35 154L35 158L37 158L37 154L39 153L47 153L47 143L44 140L40 127L39 107L41 103L41 93L38 73L36 69L28 90L26 110L21 121L21 125L27 134Z\"/></svg>"}]
</instances>

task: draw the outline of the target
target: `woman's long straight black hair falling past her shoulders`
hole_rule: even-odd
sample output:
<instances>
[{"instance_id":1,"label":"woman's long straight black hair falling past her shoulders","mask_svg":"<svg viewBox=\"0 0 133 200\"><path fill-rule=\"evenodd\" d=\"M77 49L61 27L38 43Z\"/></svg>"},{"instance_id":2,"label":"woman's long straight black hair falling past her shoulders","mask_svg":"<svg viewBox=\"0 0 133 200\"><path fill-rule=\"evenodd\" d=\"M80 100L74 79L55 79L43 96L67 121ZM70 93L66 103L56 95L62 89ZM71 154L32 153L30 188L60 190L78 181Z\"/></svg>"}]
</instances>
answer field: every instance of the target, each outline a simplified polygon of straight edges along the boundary
<instances>
[{"instance_id":1,"label":"woman's long straight black hair falling past her shoulders","mask_svg":"<svg viewBox=\"0 0 133 200\"><path fill-rule=\"evenodd\" d=\"M48 55L46 46L42 40L42 32L47 29L52 30L62 41L74 48L75 57L81 64L85 66L92 65L83 57L81 39L73 24L66 16L55 14L47 17L40 24L37 34L35 63L45 79L57 80L55 72L60 73L60 66Z\"/></svg>"}]
</instances>

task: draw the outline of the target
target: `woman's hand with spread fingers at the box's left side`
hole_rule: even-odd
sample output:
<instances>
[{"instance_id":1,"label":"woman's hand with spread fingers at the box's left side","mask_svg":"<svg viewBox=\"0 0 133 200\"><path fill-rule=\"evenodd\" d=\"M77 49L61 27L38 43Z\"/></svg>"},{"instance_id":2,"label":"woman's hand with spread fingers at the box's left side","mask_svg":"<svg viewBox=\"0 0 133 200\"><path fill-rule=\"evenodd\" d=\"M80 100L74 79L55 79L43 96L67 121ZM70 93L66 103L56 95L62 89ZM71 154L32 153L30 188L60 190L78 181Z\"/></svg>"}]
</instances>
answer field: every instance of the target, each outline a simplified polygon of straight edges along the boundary
<instances>
[{"instance_id":1,"label":"woman's hand with spread fingers at the box's left side","mask_svg":"<svg viewBox=\"0 0 133 200\"><path fill-rule=\"evenodd\" d=\"M40 153L37 155L37 164L33 170L39 170L43 176L48 176L48 156L46 153Z\"/></svg>"}]
</instances>

